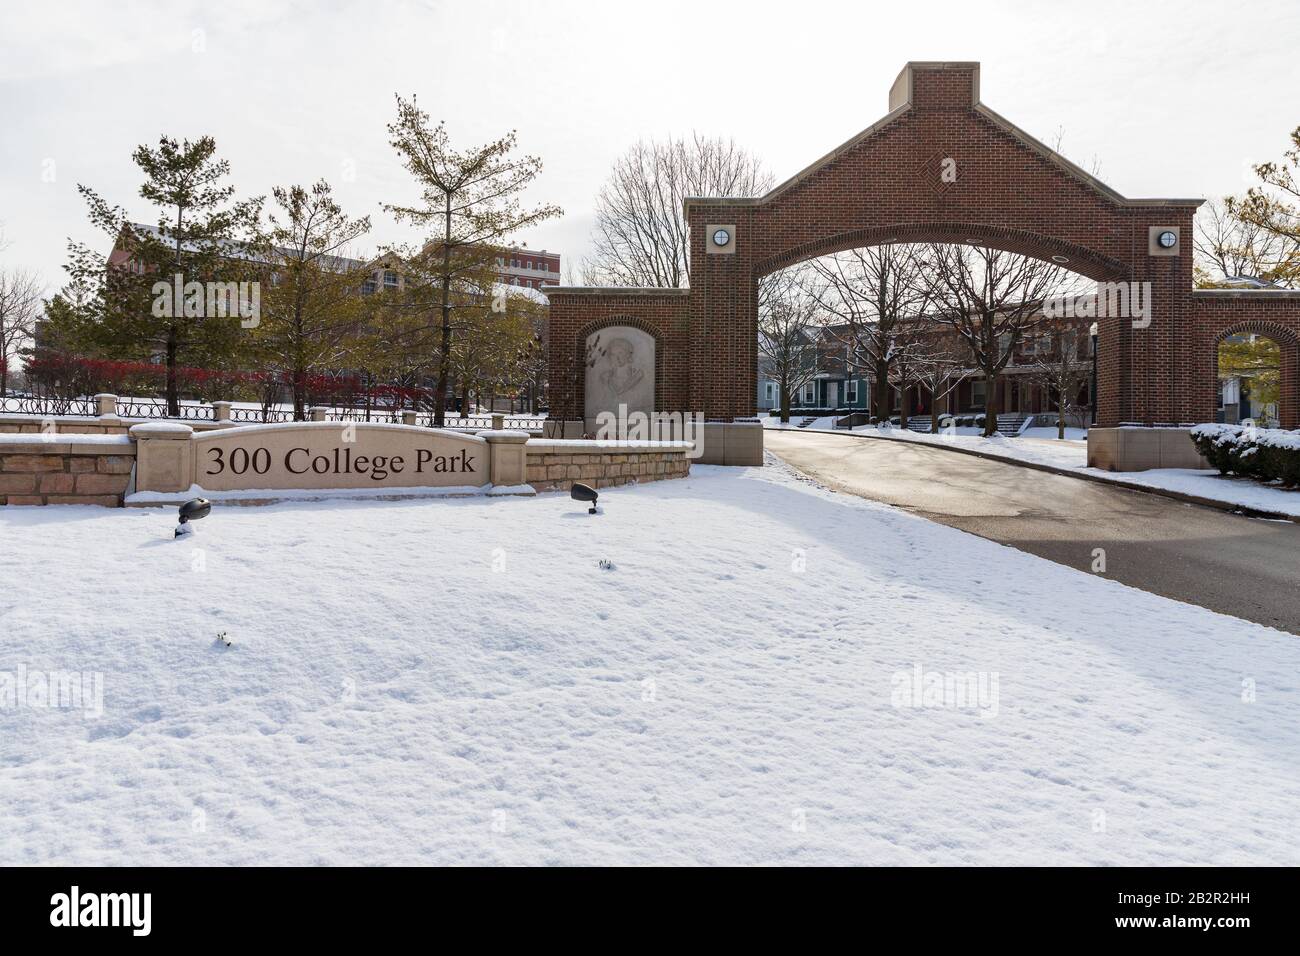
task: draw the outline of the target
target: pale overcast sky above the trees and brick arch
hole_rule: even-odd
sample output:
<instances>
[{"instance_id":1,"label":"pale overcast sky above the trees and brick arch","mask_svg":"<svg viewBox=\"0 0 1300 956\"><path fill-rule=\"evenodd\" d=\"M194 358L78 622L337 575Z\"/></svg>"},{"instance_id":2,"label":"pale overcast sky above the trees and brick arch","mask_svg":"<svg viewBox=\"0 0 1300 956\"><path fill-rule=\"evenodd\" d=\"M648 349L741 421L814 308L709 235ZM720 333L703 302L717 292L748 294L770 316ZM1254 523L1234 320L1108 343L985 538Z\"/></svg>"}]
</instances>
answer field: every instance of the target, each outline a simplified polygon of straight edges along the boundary
<instances>
[{"instance_id":1,"label":"pale overcast sky above the trees and brick arch","mask_svg":"<svg viewBox=\"0 0 1300 956\"><path fill-rule=\"evenodd\" d=\"M733 137L786 178L887 112L907 60L978 60L982 99L1128 196L1243 190L1300 125L1300 3L68 3L0 5L0 264L64 282L96 241L77 183L156 221L131 150L211 134L240 195L320 177L373 245L416 193L394 92L452 142L515 129L563 220L519 239L588 250L638 138ZM100 245L105 245L100 242ZM107 251L107 250L105 250ZM364 250L363 250L364 251Z\"/></svg>"}]
</instances>

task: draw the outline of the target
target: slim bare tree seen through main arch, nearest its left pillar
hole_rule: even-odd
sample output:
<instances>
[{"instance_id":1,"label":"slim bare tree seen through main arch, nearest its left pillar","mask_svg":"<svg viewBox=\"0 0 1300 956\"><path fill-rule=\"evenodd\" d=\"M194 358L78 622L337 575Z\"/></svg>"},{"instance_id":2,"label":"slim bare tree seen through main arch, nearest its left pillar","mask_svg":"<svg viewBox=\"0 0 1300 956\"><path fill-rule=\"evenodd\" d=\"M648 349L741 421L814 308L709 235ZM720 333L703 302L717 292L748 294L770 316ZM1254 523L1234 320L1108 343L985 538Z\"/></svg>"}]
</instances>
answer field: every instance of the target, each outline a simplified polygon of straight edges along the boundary
<instances>
[{"instance_id":1,"label":"slim bare tree seen through main arch, nearest its left pillar","mask_svg":"<svg viewBox=\"0 0 1300 956\"><path fill-rule=\"evenodd\" d=\"M780 389L783 423L790 420L790 397L816 375L822 310L807 278L805 271L790 268L759 284L758 350Z\"/></svg>"}]
</instances>

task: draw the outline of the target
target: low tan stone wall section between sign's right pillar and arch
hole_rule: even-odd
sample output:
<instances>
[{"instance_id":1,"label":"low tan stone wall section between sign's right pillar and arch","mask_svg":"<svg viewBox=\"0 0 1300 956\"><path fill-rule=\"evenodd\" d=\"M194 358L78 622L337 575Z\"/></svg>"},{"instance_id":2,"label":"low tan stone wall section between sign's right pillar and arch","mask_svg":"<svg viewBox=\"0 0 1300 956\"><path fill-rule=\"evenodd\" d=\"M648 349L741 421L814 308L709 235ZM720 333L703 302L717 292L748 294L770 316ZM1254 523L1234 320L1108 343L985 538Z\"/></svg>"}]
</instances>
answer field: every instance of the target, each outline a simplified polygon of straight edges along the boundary
<instances>
[{"instance_id":1,"label":"low tan stone wall section between sign's right pillar and arch","mask_svg":"<svg viewBox=\"0 0 1300 956\"><path fill-rule=\"evenodd\" d=\"M525 451L528 484L538 492L564 492L575 481L592 488L610 488L690 473L690 445L679 441L629 446L533 438Z\"/></svg>"}]
</instances>

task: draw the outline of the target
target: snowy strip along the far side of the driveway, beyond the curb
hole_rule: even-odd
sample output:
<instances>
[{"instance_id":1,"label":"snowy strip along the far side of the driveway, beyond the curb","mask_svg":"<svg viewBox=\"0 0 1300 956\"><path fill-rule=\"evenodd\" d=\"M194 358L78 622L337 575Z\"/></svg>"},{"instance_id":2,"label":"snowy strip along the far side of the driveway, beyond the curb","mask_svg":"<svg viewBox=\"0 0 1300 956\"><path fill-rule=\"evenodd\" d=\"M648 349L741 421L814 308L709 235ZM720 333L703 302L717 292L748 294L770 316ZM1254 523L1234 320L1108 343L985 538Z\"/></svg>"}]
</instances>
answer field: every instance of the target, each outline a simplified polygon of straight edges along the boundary
<instances>
[{"instance_id":1,"label":"snowy strip along the far side of the driveway, beyond the curb","mask_svg":"<svg viewBox=\"0 0 1300 956\"><path fill-rule=\"evenodd\" d=\"M794 419L788 425L781 425L780 421L767 424L767 418L764 416L763 423L768 428L796 428ZM800 431L826 431L835 432L836 434L848 434L850 431L835 428L833 425L833 419L818 419L815 424ZM1248 479L1225 477L1217 471L1196 471L1192 468L1154 468L1152 471L1124 472L1089 468L1088 433L1082 428L1067 428L1065 440L1056 437L1057 432L1054 428L1027 428L1015 438L1004 438L1001 436L985 438L979 429L974 428L958 428L954 434L931 434L928 432L910 432L902 428L885 429L876 425L862 425L861 428L852 429L852 432L870 433L893 441L915 441L968 449L1019 462L1082 471L1108 481L1122 481L1147 485L1153 489L1182 492L1210 501L1222 501L1240 507L1300 518L1300 490L1286 489L1280 485L1265 485Z\"/></svg>"}]
</instances>

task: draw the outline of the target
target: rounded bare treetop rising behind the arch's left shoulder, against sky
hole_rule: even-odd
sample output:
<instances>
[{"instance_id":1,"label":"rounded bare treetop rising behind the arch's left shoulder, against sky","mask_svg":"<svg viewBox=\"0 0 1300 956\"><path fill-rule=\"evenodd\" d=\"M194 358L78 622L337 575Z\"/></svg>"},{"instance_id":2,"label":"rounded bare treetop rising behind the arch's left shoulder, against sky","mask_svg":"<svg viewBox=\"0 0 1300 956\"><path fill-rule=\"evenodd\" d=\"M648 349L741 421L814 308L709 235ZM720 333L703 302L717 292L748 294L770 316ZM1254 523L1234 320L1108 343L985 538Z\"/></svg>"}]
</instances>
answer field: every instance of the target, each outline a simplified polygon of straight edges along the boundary
<instances>
[{"instance_id":1,"label":"rounded bare treetop rising behind the arch's left shoulder, against sky","mask_svg":"<svg viewBox=\"0 0 1300 956\"><path fill-rule=\"evenodd\" d=\"M755 196L772 177L731 139L638 142L614 164L595 200L585 285L680 289L690 274L688 196Z\"/></svg>"}]
</instances>

